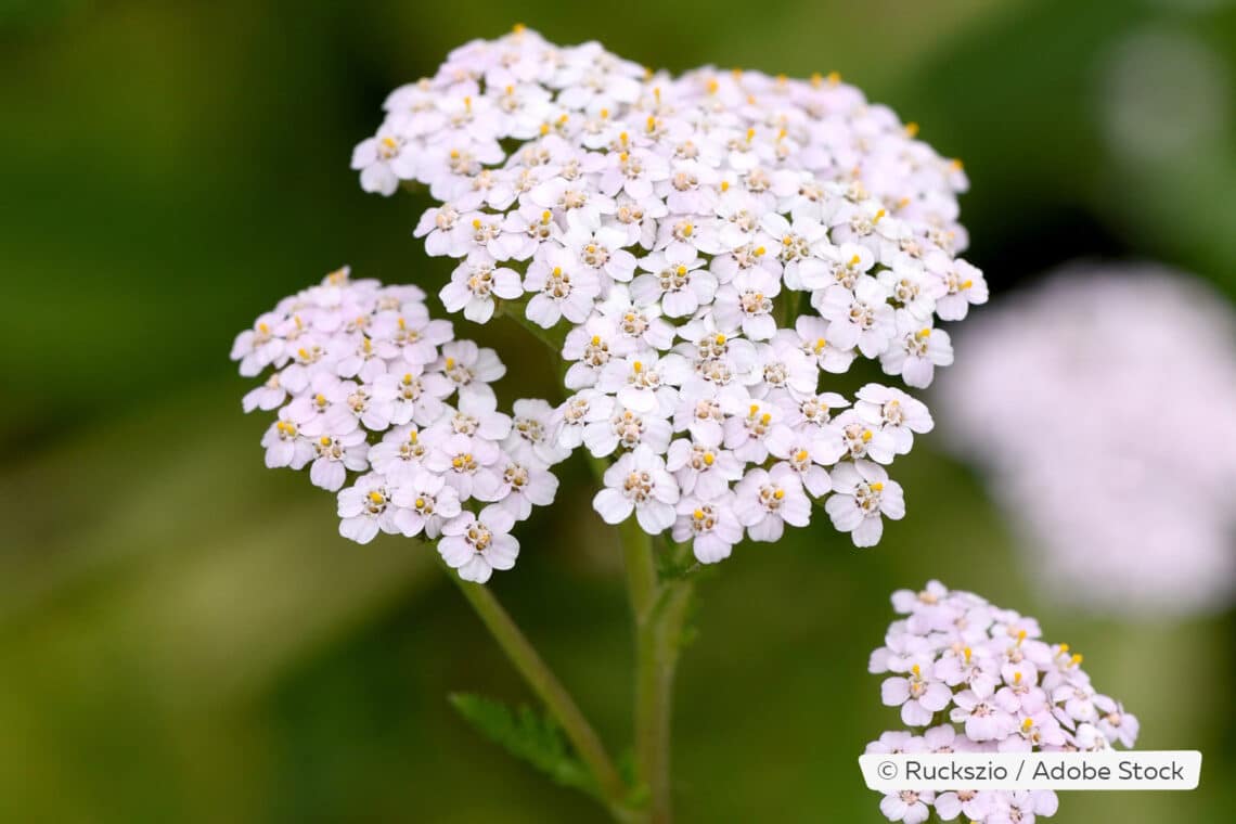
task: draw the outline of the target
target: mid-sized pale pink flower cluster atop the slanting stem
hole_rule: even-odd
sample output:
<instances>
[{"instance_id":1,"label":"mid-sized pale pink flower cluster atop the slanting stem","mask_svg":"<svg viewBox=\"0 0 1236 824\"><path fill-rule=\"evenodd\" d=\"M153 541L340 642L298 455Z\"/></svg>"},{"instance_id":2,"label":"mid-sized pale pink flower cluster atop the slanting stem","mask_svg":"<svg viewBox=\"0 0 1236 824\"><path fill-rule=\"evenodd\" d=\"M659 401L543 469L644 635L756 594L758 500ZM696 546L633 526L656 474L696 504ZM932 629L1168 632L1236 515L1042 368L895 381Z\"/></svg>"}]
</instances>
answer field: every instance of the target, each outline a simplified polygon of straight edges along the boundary
<instances>
[{"instance_id":1,"label":"mid-sized pale pink flower cluster atop the slanting stem","mask_svg":"<svg viewBox=\"0 0 1236 824\"><path fill-rule=\"evenodd\" d=\"M549 469L569 452L545 436L544 400L517 400L514 418L497 410L489 383L506 367L454 340L424 298L344 268L261 315L231 357L245 377L271 369L243 400L245 411L278 410L266 465L308 466L315 486L339 492L344 537L440 539L446 563L483 583L514 566L510 529L554 500Z\"/></svg>"}]
</instances>

